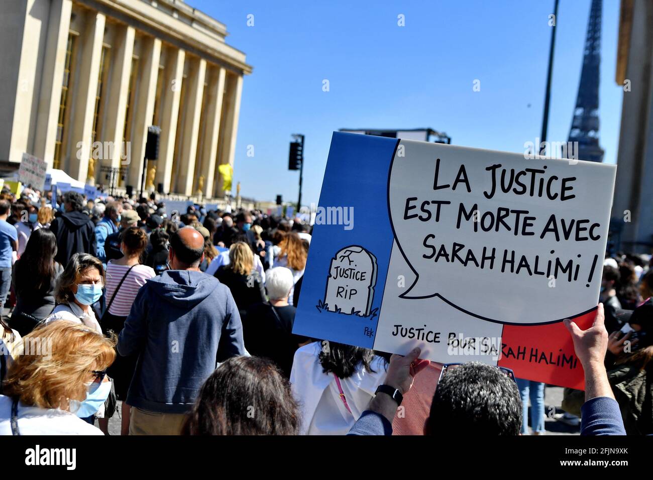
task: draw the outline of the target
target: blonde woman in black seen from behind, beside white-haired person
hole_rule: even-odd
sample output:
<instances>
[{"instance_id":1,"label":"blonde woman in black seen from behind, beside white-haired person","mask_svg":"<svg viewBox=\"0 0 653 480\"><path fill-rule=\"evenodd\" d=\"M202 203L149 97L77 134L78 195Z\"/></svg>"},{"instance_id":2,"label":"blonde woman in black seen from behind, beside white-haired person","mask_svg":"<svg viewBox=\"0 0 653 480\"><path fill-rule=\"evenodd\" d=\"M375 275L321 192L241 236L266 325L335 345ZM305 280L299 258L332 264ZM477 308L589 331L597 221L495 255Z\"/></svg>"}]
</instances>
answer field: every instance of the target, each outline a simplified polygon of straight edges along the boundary
<instances>
[{"instance_id":1,"label":"blonde woman in black seen from behind, beside white-haired person","mask_svg":"<svg viewBox=\"0 0 653 480\"><path fill-rule=\"evenodd\" d=\"M254 268L254 253L245 242L231 244L229 264L218 268L215 278L231 290L241 319L247 307L265 301L263 280Z\"/></svg>"}]
</instances>

